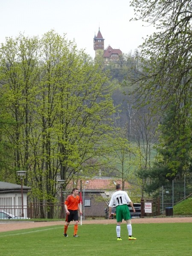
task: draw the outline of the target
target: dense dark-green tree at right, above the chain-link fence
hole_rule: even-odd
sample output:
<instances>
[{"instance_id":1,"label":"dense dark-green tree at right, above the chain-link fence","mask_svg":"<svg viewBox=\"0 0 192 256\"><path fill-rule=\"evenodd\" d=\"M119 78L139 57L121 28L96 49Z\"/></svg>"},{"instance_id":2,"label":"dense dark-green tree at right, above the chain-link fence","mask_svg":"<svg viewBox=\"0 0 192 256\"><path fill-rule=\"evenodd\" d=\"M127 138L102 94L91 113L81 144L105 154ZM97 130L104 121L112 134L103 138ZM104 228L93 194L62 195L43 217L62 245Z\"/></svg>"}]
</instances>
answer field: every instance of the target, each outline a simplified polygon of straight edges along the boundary
<instances>
[{"instance_id":1,"label":"dense dark-green tree at right, above the chain-link fence","mask_svg":"<svg viewBox=\"0 0 192 256\"><path fill-rule=\"evenodd\" d=\"M178 118L175 113L180 117ZM157 145L157 161L145 173L146 177L151 178L151 183L145 187L148 192L172 183L175 177L183 180L184 175L192 170L191 122L183 122L182 115L182 108L177 112L175 105L172 105L169 112L163 116ZM185 120L185 115L183 117ZM180 126L177 119L180 120Z\"/></svg>"}]
</instances>

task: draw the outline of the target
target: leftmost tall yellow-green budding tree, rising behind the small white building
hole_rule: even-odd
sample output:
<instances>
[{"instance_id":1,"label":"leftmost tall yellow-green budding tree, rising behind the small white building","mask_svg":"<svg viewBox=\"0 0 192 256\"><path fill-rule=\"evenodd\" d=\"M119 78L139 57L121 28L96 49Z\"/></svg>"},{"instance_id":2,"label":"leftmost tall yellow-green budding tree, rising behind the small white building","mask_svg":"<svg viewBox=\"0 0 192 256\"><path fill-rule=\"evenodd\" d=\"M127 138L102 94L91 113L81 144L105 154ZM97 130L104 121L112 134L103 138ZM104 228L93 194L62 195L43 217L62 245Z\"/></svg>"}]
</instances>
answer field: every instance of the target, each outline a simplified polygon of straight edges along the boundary
<instances>
[{"instance_id":1,"label":"leftmost tall yellow-green budding tree, rising behind the small white building","mask_svg":"<svg viewBox=\"0 0 192 256\"><path fill-rule=\"evenodd\" d=\"M12 127L6 126L12 147L12 170L27 170L29 160L29 131L35 80L37 77L37 38L20 35L15 40L6 38L0 48L1 94L6 97L7 114L12 119ZM16 174L16 173L15 173ZM17 176L16 176L17 177Z\"/></svg>"}]
</instances>

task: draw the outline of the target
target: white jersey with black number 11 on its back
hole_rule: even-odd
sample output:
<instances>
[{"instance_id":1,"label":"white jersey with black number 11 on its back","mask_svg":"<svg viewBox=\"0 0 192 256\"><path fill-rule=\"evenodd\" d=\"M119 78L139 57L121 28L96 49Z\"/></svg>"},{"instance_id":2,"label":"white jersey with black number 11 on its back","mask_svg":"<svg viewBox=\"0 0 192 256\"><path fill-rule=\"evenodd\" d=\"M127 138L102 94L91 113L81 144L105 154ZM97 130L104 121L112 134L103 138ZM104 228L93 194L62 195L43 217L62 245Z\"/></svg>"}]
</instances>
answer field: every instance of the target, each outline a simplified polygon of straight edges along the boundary
<instances>
[{"instance_id":1,"label":"white jersey with black number 11 on its back","mask_svg":"<svg viewBox=\"0 0 192 256\"><path fill-rule=\"evenodd\" d=\"M109 207L114 207L122 204L128 204L131 202L131 199L128 197L128 194L125 191L117 190L111 197Z\"/></svg>"}]
</instances>

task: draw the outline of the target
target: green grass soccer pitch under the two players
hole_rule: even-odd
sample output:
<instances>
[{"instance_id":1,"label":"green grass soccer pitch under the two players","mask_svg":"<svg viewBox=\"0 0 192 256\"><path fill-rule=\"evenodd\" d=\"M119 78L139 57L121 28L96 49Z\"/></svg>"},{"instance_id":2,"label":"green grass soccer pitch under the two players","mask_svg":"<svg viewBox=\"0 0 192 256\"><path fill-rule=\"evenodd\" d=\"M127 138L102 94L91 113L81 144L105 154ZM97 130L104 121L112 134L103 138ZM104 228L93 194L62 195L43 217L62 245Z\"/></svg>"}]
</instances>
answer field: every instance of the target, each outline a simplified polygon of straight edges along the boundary
<instances>
[{"instance_id":1,"label":"green grass soccer pitch under the two players","mask_svg":"<svg viewBox=\"0 0 192 256\"><path fill-rule=\"evenodd\" d=\"M0 233L2 256L191 256L192 223L132 224L136 241L128 240L126 224L121 225L122 241L116 241L116 224L79 225L68 237L63 225Z\"/></svg>"}]
</instances>

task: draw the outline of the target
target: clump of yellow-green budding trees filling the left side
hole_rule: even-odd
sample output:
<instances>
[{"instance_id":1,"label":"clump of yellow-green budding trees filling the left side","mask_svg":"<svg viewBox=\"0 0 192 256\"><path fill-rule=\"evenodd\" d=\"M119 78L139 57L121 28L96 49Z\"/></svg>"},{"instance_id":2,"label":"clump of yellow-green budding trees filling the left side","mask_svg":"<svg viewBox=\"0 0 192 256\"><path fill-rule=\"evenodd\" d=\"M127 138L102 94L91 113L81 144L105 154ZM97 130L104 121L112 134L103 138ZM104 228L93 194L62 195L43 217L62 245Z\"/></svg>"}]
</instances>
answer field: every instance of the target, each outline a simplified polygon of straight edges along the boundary
<instances>
[{"instance_id":1,"label":"clump of yellow-green budding trees filling the left side","mask_svg":"<svg viewBox=\"0 0 192 256\"><path fill-rule=\"evenodd\" d=\"M25 170L34 198L52 201L58 179L65 188L81 169L94 174L115 108L107 76L83 50L53 30L41 39L7 38L0 84L0 149L9 153L2 180Z\"/></svg>"}]
</instances>

